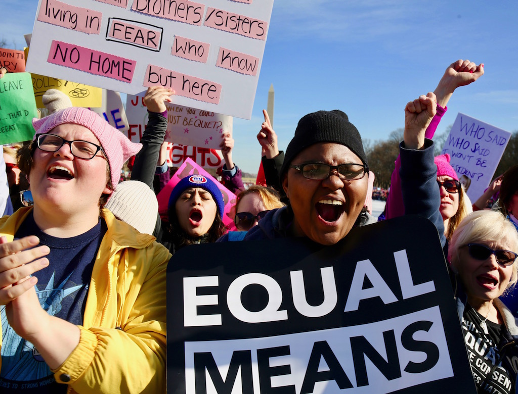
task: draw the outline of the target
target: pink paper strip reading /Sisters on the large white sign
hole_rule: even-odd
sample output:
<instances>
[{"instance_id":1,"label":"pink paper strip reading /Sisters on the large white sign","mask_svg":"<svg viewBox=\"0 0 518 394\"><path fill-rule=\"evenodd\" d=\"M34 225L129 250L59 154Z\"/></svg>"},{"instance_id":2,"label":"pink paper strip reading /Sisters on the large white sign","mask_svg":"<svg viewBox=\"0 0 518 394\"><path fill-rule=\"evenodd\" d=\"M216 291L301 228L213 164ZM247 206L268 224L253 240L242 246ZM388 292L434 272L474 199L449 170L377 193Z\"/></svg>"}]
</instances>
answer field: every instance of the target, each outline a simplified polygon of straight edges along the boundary
<instances>
[{"instance_id":1,"label":"pink paper strip reading /Sisters on the large white sign","mask_svg":"<svg viewBox=\"0 0 518 394\"><path fill-rule=\"evenodd\" d=\"M207 7L204 26L213 27L228 33L240 34L249 38L266 40L268 22Z\"/></svg>"}]
</instances>

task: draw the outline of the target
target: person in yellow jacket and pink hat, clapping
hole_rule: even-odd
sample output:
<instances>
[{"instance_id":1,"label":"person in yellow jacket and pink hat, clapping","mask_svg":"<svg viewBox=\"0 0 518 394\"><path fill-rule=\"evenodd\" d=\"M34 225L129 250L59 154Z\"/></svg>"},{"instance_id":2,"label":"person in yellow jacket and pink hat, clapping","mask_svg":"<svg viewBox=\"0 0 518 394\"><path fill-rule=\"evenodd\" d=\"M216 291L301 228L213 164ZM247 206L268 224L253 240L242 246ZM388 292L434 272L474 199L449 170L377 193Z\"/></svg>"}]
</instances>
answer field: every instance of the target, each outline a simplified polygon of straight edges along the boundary
<instances>
[{"instance_id":1,"label":"person in yellow jacket and pink hat, clapping","mask_svg":"<svg viewBox=\"0 0 518 394\"><path fill-rule=\"evenodd\" d=\"M33 126L34 206L0 220L2 392L163 392L171 255L103 209L141 146L84 108Z\"/></svg>"}]
</instances>

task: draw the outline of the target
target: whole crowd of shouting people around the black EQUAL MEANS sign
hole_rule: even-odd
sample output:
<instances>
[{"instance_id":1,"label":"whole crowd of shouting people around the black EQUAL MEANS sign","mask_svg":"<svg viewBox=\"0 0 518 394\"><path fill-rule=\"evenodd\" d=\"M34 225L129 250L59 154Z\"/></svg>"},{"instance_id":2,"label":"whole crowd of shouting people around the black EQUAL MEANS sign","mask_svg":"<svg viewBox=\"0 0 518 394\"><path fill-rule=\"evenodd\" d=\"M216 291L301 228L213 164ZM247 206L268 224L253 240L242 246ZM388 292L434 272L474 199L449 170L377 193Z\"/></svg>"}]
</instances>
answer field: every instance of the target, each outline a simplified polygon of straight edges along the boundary
<instances>
[{"instance_id":1,"label":"whole crowd of shouting people around the black EQUAL MEANS sign","mask_svg":"<svg viewBox=\"0 0 518 394\"><path fill-rule=\"evenodd\" d=\"M0 77L6 71L0 68ZM482 349L469 358L478 391L493 392L503 374L512 382L506 392L515 392L518 165L471 203L449 155L434 157L432 140L455 89L483 73L483 64L457 60L434 92L406 104L390 191L368 195L368 158L343 111L303 116L285 152L264 111L257 134L264 185L243 186L234 140L223 134L222 183L237 195L233 231L223 222L220 185L199 174L180 179L167 214L159 213L156 194L171 176L164 149L171 89L148 88L139 144L70 103L35 118L33 141L4 147L0 179L3 392L22 385L34 392L164 392L166 267L176 251L289 237L335 245L377 222L369 213L373 198L386 200L380 219L417 214L434 223L466 342ZM131 178L122 180L132 157ZM480 368L479 358L490 367Z\"/></svg>"}]
</instances>

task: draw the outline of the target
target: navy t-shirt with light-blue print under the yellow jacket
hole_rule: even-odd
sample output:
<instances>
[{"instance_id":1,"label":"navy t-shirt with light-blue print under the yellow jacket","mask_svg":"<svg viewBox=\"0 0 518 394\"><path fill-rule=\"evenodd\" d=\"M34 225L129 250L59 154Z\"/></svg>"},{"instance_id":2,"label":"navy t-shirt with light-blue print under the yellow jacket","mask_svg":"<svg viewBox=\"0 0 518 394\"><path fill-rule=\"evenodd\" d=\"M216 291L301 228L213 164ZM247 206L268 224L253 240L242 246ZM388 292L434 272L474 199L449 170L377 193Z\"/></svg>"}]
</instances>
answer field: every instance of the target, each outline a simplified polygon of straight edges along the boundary
<instances>
[{"instance_id":1,"label":"navy t-shirt with light-blue print under the yellow jacket","mask_svg":"<svg viewBox=\"0 0 518 394\"><path fill-rule=\"evenodd\" d=\"M36 294L47 313L81 325L92 269L100 242L106 233L104 220L86 233L72 238L56 238L42 232L32 214L18 229L15 238L36 235L40 245L47 245L49 266L35 272ZM2 316L2 393L65 393L67 385L58 384L47 363L34 345L18 336L9 326L5 306Z\"/></svg>"}]
</instances>

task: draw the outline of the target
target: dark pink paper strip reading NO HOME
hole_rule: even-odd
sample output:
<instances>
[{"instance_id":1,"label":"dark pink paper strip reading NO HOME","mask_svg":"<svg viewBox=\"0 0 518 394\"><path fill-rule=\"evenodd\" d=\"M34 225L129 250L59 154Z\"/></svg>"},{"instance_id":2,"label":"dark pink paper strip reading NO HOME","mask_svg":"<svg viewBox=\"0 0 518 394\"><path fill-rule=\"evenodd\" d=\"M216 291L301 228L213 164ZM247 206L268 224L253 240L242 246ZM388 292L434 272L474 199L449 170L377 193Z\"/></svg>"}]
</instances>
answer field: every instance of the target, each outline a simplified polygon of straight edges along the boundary
<instances>
[{"instance_id":1,"label":"dark pink paper strip reading NO HOME","mask_svg":"<svg viewBox=\"0 0 518 394\"><path fill-rule=\"evenodd\" d=\"M47 62L131 83L137 62L52 40Z\"/></svg>"}]
</instances>

